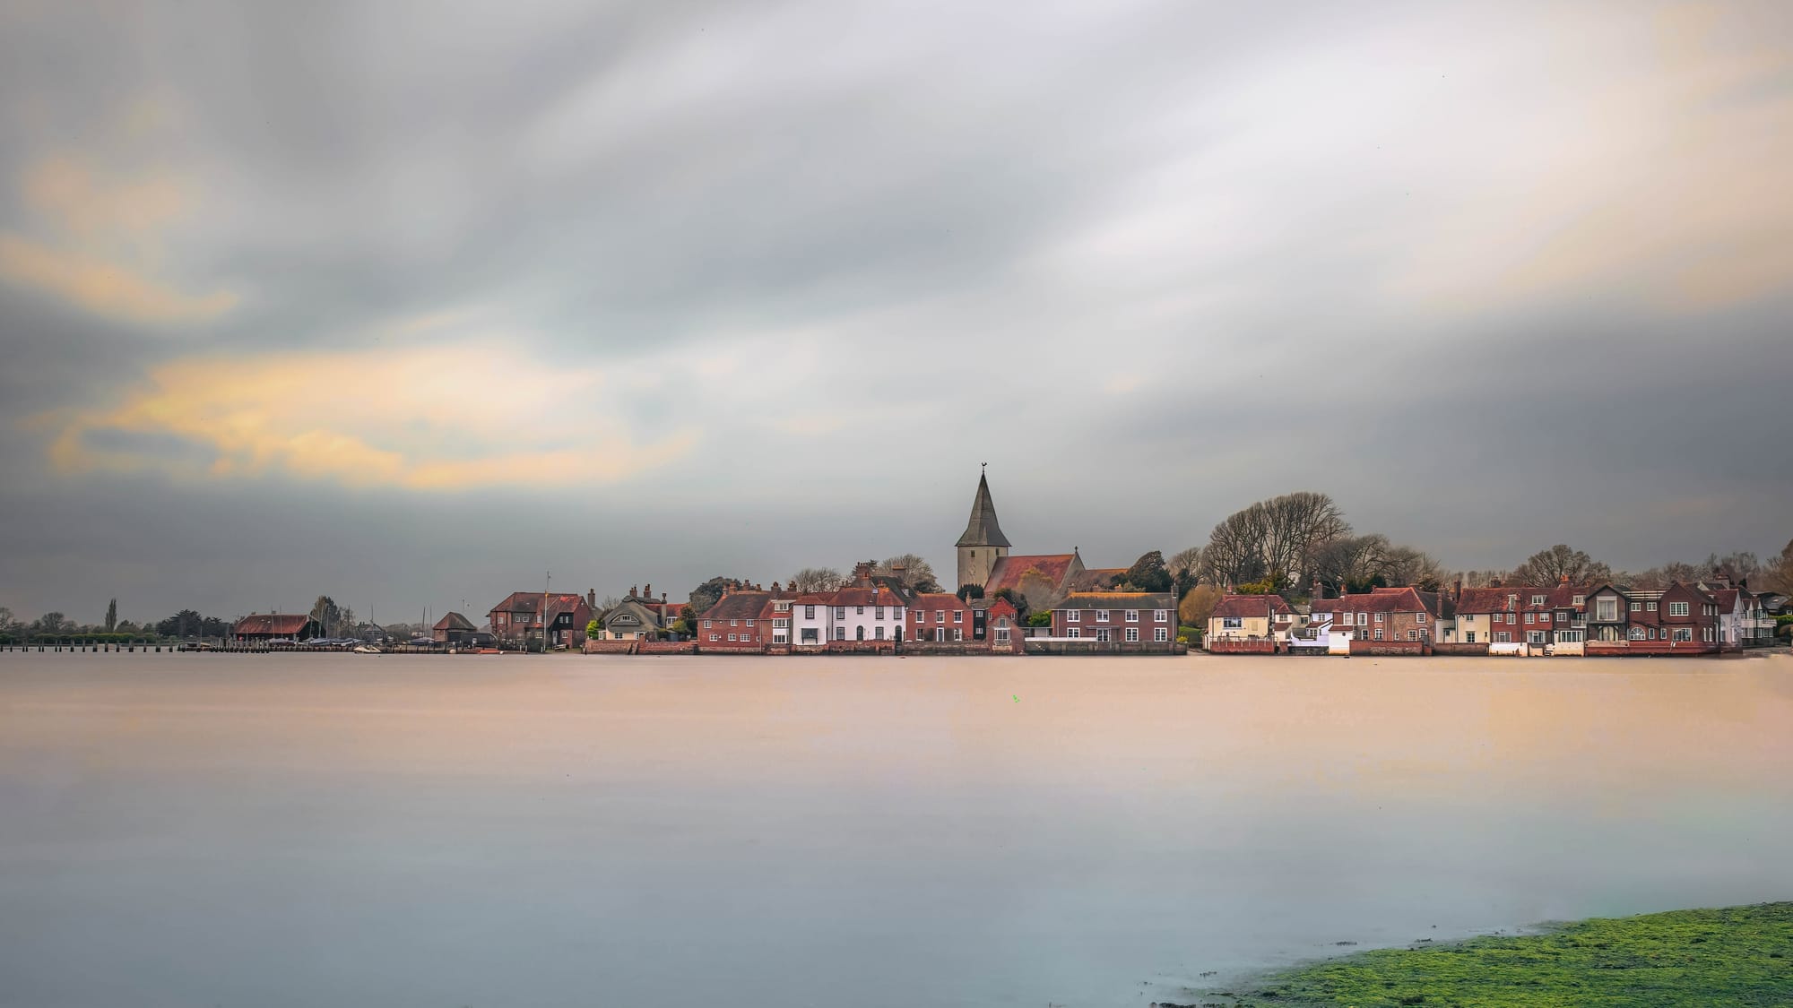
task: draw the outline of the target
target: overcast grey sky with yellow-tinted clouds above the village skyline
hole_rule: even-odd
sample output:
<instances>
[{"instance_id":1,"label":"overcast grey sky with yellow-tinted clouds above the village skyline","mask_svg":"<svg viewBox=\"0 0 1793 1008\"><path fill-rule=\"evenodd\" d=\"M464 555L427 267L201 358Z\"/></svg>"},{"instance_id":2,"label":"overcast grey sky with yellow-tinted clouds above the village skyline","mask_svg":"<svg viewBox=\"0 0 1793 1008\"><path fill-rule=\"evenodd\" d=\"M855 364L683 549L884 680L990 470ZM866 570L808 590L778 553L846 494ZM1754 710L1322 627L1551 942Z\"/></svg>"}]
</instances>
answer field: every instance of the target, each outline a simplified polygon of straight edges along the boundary
<instances>
[{"instance_id":1,"label":"overcast grey sky with yellow-tinted clouds above the village skyline","mask_svg":"<svg viewBox=\"0 0 1793 1008\"><path fill-rule=\"evenodd\" d=\"M1321 490L1777 552L1793 7L0 0L0 606L484 613Z\"/></svg>"}]
</instances>

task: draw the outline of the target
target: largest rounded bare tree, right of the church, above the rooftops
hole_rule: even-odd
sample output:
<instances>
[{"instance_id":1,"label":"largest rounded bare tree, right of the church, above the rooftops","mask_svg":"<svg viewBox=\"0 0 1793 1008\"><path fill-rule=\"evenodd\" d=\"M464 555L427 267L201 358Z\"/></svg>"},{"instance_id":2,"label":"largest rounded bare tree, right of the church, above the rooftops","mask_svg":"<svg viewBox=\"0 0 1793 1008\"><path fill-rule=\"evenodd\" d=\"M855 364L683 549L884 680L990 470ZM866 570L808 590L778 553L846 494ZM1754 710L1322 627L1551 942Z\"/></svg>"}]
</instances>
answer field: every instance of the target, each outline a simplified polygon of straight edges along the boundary
<instances>
[{"instance_id":1,"label":"largest rounded bare tree, right of the church, above the rooftops","mask_svg":"<svg viewBox=\"0 0 1793 1008\"><path fill-rule=\"evenodd\" d=\"M1318 552L1348 534L1350 522L1330 497L1302 490L1228 515L1208 533L1201 560L1216 581L1280 576L1302 583L1312 572Z\"/></svg>"}]
</instances>

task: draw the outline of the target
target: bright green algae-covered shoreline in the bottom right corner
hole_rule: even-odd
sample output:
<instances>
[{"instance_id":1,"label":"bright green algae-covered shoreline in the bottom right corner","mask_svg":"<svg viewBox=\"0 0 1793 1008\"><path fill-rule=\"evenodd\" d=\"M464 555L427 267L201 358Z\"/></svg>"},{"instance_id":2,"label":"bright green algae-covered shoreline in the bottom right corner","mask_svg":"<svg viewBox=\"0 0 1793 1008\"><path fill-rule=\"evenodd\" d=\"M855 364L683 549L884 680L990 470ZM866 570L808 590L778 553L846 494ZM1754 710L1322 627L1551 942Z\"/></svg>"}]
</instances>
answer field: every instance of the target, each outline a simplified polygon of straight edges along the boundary
<instances>
[{"instance_id":1,"label":"bright green algae-covered shoreline in the bottom right corner","mask_svg":"<svg viewBox=\"0 0 1793 1008\"><path fill-rule=\"evenodd\" d=\"M1436 945L1422 940L1278 970L1187 1004L1786 1006L1793 1004L1793 902L1592 918Z\"/></svg>"}]
</instances>

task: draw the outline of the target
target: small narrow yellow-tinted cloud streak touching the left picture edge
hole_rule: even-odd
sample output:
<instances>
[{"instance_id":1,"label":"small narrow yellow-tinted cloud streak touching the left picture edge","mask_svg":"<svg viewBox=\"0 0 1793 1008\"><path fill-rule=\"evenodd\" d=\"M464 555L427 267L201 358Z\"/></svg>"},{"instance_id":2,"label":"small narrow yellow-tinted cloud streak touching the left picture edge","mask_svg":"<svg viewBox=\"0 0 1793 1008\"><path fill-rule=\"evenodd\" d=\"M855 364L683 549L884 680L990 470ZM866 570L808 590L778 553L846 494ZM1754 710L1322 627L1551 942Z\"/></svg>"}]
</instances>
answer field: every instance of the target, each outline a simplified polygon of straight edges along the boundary
<instances>
[{"instance_id":1,"label":"small narrow yellow-tinted cloud streak touching the left picture edge","mask_svg":"<svg viewBox=\"0 0 1793 1008\"><path fill-rule=\"evenodd\" d=\"M0 276L61 296L91 312L145 323L201 321L228 312L228 291L183 294L100 258L56 251L18 235L0 235Z\"/></svg>"}]
</instances>

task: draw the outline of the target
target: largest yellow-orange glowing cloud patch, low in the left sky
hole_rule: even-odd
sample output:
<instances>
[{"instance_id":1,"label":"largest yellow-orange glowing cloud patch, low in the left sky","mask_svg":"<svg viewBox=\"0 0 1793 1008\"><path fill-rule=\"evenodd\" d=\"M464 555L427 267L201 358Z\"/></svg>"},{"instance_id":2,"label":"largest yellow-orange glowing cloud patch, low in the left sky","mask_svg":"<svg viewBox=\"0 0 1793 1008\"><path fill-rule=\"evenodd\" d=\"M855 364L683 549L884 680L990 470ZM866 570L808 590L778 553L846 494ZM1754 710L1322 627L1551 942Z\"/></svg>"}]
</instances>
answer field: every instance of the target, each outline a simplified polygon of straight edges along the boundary
<instances>
[{"instance_id":1,"label":"largest yellow-orange glowing cloud patch, low in the left sky","mask_svg":"<svg viewBox=\"0 0 1793 1008\"><path fill-rule=\"evenodd\" d=\"M637 434L593 416L602 378L515 346L195 357L149 373L111 409L48 418L61 472L285 474L346 486L466 490L611 482L672 461L690 430ZM178 441L192 456L118 443Z\"/></svg>"}]
</instances>

